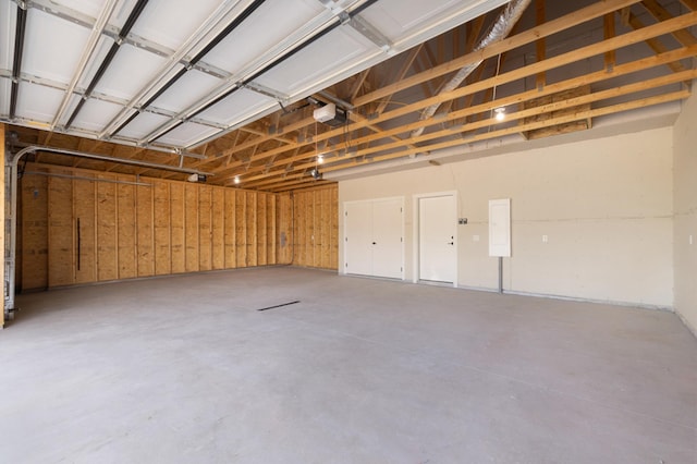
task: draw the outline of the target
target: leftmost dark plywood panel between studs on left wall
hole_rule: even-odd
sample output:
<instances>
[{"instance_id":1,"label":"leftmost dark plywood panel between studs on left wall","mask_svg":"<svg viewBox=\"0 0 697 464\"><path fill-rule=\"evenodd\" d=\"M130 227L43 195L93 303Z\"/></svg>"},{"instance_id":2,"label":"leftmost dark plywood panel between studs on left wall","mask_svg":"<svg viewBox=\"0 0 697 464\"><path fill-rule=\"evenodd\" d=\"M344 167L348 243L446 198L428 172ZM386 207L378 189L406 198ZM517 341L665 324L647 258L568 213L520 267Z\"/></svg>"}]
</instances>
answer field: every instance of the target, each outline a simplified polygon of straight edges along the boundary
<instances>
[{"instance_id":1,"label":"leftmost dark plywood panel between studs on left wall","mask_svg":"<svg viewBox=\"0 0 697 464\"><path fill-rule=\"evenodd\" d=\"M48 178L24 175L22 194L22 290L48 286Z\"/></svg>"}]
</instances>

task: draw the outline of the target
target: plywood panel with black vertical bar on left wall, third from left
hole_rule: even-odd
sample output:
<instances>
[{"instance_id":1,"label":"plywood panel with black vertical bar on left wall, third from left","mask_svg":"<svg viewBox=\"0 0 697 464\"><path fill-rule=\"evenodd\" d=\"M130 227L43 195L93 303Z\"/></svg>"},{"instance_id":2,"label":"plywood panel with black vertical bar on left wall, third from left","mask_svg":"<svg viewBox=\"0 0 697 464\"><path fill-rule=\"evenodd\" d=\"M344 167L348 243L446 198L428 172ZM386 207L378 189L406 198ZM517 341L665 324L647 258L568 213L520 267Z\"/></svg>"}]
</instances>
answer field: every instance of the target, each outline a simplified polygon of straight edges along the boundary
<instances>
[{"instance_id":1,"label":"plywood panel with black vertical bar on left wall, third from left","mask_svg":"<svg viewBox=\"0 0 697 464\"><path fill-rule=\"evenodd\" d=\"M96 183L73 181L73 213L75 216L75 283L97 280Z\"/></svg>"}]
</instances>

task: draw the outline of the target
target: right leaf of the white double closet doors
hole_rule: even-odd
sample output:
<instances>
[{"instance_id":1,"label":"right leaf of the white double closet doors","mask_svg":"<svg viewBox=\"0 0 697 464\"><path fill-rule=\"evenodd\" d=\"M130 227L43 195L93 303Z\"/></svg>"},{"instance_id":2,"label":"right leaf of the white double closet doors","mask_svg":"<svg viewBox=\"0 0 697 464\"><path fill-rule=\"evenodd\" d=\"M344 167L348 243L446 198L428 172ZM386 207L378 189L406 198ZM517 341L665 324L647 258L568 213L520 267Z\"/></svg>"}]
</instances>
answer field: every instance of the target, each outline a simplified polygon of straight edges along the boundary
<instances>
[{"instance_id":1,"label":"right leaf of the white double closet doors","mask_svg":"<svg viewBox=\"0 0 697 464\"><path fill-rule=\"evenodd\" d=\"M372 202L372 274L402 278L402 208L400 198Z\"/></svg>"}]
</instances>

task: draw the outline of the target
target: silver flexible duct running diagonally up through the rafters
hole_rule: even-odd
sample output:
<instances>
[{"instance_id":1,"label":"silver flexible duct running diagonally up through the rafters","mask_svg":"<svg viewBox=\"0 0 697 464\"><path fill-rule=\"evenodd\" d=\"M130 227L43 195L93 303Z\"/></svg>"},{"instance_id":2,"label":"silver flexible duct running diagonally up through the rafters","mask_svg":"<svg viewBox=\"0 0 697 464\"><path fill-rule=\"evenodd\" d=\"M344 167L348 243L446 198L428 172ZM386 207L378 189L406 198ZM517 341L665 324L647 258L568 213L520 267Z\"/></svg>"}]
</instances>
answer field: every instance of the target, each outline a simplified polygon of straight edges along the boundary
<instances>
[{"instance_id":1,"label":"silver flexible duct running diagonally up through the rafters","mask_svg":"<svg viewBox=\"0 0 697 464\"><path fill-rule=\"evenodd\" d=\"M521 19L525 9L530 4L531 0L512 0L503 10L503 12L497 17L497 21L491 26L489 34L487 34L477 44L472 52L479 51L491 44L496 44L498 41L503 40L511 30L513 30L513 26ZM481 64L484 60L475 61L474 63L466 64L457 74L455 74L450 81L443 85L443 87L436 94L436 96L444 94L447 91L452 91L462 84L462 82L467 78L469 74L474 70ZM419 117L419 121L425 121L436 114L436 110L440 107L441 103L433 103L430 107L424 108L421 114ZM418 127L412 131L409 134L411 137L418 137L424 133L425 127Z\"/></svg>"}]
</instances>

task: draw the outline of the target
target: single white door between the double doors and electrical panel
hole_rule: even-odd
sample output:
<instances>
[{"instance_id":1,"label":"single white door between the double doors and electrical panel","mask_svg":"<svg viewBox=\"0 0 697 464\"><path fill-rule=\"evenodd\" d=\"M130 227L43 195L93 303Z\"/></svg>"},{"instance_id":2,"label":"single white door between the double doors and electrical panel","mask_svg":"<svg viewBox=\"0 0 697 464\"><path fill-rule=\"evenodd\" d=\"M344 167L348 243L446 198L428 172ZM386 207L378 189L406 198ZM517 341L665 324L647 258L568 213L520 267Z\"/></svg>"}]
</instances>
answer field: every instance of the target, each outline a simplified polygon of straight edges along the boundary
<instances>
[{"instance_id":1,"label":"single white door between the double doors and electrical panel","mask_svg":"<svg viewBox=\"0 0 697 464\"><path fill-rule=\"evenodd\" d=\"M418 216L419 280L454 283L457 266L455 197L419 198Z\"/></svg>"}]
</instances>

